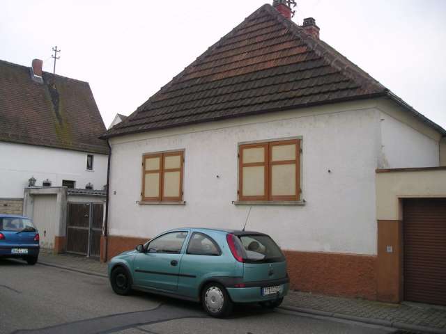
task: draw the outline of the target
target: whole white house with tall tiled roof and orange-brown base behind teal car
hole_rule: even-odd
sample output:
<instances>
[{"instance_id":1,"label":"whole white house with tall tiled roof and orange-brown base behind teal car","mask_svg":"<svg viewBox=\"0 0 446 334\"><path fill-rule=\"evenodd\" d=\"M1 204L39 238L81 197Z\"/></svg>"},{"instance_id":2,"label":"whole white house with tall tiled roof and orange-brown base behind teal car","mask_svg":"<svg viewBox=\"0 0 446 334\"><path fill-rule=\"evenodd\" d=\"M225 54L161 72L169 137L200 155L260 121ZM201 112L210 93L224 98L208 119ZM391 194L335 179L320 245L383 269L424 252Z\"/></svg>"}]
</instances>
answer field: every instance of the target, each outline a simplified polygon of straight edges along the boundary
<instances>
[{"instance_id":1,"label":"whole white house with tall tiled roof and orange-brown base behind teal car","mask_svg":"<svg viewBox=\"0 0 446 334\"><path fill-rule=\"evenodd\" d=\"M401 301L393 213L401 196L446 198L446 131L290 17L262 6L109 129L103 257L170 228L241 229L251 209L293 288ZM394 168L415 169L381 182Z\"/></svg>"}]
</instances>

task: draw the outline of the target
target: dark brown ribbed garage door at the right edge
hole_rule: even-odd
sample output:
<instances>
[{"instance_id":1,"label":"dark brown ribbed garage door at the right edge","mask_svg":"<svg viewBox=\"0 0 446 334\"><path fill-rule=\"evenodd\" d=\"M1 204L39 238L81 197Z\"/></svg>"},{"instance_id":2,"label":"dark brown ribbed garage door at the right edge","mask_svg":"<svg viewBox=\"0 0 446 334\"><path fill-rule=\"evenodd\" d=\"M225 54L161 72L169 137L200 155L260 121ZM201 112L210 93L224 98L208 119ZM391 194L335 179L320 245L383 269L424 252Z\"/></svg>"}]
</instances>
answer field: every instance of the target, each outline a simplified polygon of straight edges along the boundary
<instances>
[{"instance_id":1,"label":"dark brown ribbed garage door at the right edge","mask_svg":"<svg viewBox=\"0 0 446 334\"><path fill-rule=\"evenodd\" d=\"M446 305L446 198L403 202L404 299Z\"/></svg>"}]
</instances>

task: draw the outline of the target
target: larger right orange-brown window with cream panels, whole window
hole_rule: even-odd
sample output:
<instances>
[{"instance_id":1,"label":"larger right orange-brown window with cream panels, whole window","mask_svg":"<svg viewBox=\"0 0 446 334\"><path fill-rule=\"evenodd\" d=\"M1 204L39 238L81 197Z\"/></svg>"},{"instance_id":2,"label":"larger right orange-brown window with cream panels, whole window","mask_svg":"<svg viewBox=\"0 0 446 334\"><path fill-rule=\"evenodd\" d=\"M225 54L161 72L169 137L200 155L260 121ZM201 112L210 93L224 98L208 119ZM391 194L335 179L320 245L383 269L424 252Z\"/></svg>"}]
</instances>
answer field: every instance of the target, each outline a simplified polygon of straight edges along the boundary
<instances>
[{"instance_id":1,"label":"larger right orange-brown window with cream panels, whole window","mask_svg":"<svg viewBox=\"0 0 446 334\"><path fill-rule=\"evenodd\" d=\"M239 147L239 200L299 200L300 140Z\"/></svg>"}]
</instances>

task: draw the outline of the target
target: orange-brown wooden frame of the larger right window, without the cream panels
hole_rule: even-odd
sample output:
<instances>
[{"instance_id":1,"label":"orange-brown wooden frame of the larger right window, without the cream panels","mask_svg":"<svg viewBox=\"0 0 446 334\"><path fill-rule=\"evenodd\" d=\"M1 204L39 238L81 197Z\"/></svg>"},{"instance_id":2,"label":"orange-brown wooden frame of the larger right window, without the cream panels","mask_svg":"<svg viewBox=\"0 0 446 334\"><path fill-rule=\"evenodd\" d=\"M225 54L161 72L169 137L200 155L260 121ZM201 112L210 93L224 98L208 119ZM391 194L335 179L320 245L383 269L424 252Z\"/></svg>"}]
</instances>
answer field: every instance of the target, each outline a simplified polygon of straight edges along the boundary
<instances>
[{"instance_id":1,"label":"orange-brown wooden frame of the larger right window, without the cream panels","mask_svg":"<svg viewBox=\"0 0 446 334\"><path fill-rule=\"evenodd\" d=\"M272 161L272 148L280 145L296 145L295 159ZM264 163L243 163L243 150L249 148L264 148ZM240 202L300 202L302 196L302 138L284 138L273 139L269 141L259 141L238 144L238 201ZM295 195L273 196L272 195L272 166L295 164ZM243 167L263 166L265 165L265 192L263 196L244 196L243 195Z\"/></svg>"}]
</instances>

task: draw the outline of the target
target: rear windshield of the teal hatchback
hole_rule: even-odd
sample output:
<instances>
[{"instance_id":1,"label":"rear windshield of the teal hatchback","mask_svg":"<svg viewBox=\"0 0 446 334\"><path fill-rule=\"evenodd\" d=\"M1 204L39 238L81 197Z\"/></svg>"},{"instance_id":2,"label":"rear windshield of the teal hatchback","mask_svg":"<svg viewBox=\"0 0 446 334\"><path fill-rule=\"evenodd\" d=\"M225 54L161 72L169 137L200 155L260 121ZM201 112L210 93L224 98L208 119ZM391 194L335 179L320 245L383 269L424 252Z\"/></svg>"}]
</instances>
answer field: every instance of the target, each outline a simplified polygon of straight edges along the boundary
<instances>
[{"instance_id":1,"label":"rear windshield of the teal hatchback","mask_svg":"<svg viewBox=\"0 0 446 334\"><path fill-rule=\"evenodd\" d=\"M245 260L249 262L282 262L285 260L282 250L268 235L240 236L245 248Z\"/></svg>"}]
</instances>

